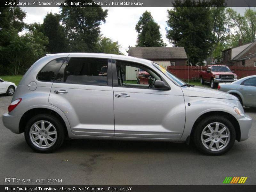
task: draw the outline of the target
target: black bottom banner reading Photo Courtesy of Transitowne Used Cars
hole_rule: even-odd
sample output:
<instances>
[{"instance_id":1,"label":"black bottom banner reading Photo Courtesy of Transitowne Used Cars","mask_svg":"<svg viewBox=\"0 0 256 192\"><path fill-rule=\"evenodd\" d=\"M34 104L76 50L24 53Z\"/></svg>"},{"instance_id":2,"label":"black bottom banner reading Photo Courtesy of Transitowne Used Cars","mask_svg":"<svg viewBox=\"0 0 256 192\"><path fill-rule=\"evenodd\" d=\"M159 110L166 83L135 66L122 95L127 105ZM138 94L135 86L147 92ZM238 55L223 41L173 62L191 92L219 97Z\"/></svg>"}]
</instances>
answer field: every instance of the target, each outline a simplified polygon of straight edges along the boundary
<instances>
[{"instance_id":1,"label":"black bottom banner reading Photo Courtesy of Transitowne Used Cars","mask_svg":"<svg viewBox=\"0 0 256 192\"><path fill-rule=\"evenodd\" d=\"M173 192L254 192L256 191L256 186L245 186L245 185L222 185L222 186L203 186L203 185L195 185L195 186L168 186L168 185L160 185L160 186L149 186L149 185L123 185L123 186L85 186L85 185L77 185L77 186L0 186L1 192L57 192L57 191L68 191L68 192L117 192L117 191L126 191L126 192L162 192L162 191L173 191Z\"/></svg>"}]
</instances>

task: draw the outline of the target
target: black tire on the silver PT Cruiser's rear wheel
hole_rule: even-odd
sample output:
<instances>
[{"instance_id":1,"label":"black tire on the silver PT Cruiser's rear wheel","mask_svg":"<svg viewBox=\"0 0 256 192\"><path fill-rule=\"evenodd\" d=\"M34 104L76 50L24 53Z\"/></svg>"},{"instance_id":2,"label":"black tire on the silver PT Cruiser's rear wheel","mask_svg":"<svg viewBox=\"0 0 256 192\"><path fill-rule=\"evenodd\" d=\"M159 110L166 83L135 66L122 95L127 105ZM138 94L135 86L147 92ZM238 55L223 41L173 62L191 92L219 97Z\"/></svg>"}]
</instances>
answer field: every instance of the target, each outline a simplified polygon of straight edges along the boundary
<instances>
[{"instance_id":1,"label":"black tire on the silver PT Cruiser's rear wheel","mask_svg":"<svg viewBox=\"0 0 256 192\"><path fill-rule=\"evenodd\" d=\"M31 139L32 136L30 136L30 129L33 129L32 125L35 124L36 122L40 122L40 121L44 121L44 124L51 123L53 126L50 129L52 129L53 131L56 130L56 132L57 132L56 139L54 138L55 142L52 144L52 146L50 146L51 144L49 144L48 148L38 147L36 144L33 143L32 139ZM55 130L54 130L54 128L55 128ZM49 133L50 133L50 129L48 130ZM46 132L46 129L44 132ZM37 136L39 136L39 134ZM47 132L46 132L46 134L47 134ZM43 136L49 137L50 136L50 135L46 135L46 134L41 133L40 137L43 137ZM62 145L62 143L65 139L64 125L60 122L60 120L58 118L56 118L54 116L50 116L48 114L39 114L39 115L33 116L28 121L28 123L26 124L26 127L25 127L24 135L25 135L25 139L26 139L29 147L31 147L34 151L36 151L38 153L51 153L51 152L57 150L58 148L60 148L60 146ZM40 141L41 139L38 139L38 140ZM49 140L47 140L47 143L48 142L49 142ZM43 143L44 143L44 145L46 145L45 141L43 141ZM42 147L44 147L44 146L42 146Z\"/></svg>"}]
</instances>

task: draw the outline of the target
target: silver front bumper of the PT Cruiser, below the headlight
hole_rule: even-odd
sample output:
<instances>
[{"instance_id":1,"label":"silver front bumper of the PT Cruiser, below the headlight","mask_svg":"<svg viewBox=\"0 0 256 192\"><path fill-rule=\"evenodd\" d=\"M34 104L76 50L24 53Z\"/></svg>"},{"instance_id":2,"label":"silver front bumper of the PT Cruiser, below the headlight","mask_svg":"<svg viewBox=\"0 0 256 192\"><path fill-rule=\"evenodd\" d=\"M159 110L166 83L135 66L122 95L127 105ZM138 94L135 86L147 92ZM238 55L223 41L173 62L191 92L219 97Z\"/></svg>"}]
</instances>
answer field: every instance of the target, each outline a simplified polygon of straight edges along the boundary
<instances>
[{"instance_id":1,"label":"silver front bumper of the PT Cruiser, below the headlight","mask_svg":"<svg viewBox=\"0 0 256 192\"><path fill-rule=\"evenodd\" d=\"M239 115L237 115L238 117ZM241 117L241 116L239 116ZM252 117L245 115L242 118L236 118L240 126L241 137L239 141L247 140L249 137L249 130L252 127Z\"/></svg>"}]
</instances>

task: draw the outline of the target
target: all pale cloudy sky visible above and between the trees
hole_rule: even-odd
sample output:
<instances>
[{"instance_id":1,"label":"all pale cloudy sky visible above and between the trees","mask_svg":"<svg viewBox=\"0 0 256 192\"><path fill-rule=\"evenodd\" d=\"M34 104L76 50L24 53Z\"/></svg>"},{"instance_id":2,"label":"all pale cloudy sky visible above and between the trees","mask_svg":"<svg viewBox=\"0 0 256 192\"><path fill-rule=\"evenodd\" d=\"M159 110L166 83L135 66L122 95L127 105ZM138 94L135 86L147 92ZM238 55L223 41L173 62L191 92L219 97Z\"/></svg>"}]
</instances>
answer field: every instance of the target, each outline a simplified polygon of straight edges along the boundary
<instances>
[{"instance_id":1,"label":"all pale cloudy sky visible above and between the trees","mask_svg":"<svg viewBox=\"0 0 256 192\"><path fill-rule=\"evenodd\" d=\"M27 24L39 22L43 23L44 17L47 12L59 13L58 7L21 7L22 10L27 12L25 22ZM135 25L140 19L143 12L151 12L152 17L160 26L160 32L164 43L167 47L172 47L172 44L166 39L167 28L167 9L172 7L103 7L103 10L108 9L108 17L106 23L100 26L103 36L110 37L113 41L118 41L121 45L120 51L125 55L128 46L135 46L137 39L137 32ZM246 7L233 7L240 14L244 14Z\"/></svg>"}]
</instances>

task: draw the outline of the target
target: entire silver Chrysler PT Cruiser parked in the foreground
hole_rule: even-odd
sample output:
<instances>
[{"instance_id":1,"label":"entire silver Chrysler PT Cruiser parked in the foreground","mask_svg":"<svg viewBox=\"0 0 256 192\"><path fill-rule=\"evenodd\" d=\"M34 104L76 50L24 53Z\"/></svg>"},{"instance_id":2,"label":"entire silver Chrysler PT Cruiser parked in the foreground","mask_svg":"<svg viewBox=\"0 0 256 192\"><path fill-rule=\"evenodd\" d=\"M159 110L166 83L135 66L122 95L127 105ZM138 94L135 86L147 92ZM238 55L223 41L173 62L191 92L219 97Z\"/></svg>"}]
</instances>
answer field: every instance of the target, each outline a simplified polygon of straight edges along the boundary
<instances>
[{"instance_id":1,"label":"entire silver Chrysler PT Cruiser parked in the foreground","mask_svg":"<svg viewBox=\"0 0 256 192\"><path fill-rule=\"evenodd\" d=\"M140 84L129 81L139 69L150 76ZM203 153L220 155L235 140L246 140L252 126L235 96L190 86L152 61L110 54L39 59L20 81L8 111L5 127L25 132L28 145L42 153L69 137L193 140Z\"/></svg>"}]
</instances>

